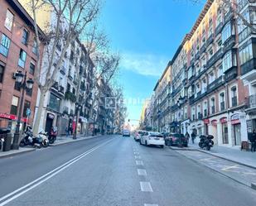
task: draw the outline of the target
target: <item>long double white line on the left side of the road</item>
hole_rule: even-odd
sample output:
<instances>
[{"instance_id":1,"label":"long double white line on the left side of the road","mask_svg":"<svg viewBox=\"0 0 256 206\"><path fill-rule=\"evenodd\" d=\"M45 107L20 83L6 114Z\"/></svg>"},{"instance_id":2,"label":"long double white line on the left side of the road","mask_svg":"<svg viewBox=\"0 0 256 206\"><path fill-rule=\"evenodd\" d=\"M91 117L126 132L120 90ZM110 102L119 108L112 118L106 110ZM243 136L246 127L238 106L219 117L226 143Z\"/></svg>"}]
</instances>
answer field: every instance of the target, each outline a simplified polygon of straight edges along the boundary
<instances>
[{"instance_id":1,"label":"long double white line on the left side of the road","mask_svg":"<svg viewBox=\"0 0 256 206\"><path fill-rule=\"evenodd\" d=\"M109 141L113 141L113 139L109 140ZM35 188L36 186L42 184L43 182L45 182L46 180L49 180L51 177L57 175L58 173L60 173L60 171L65 170L65 168L69 167L70 165L73 165L76 161L80 160L81 158L83 158L84 156L88 156L91 152L99 149L99 147L104 146L105 144L109 143L109 141L105 141L104 143L100 144L99 146L94 146L93 148L89 149L89 151L85 151L84 153L80 154L79 156L76 156L75 158L73 158L72 160L69 160L67 162L65 162L63 165L58 166L56 169L51 170L50 172L46 173L46 175L42 175L40 178L33 180L31 183L26 184L24 186L22 186L19 189L14 190L12 193L10 194L6 194L5 196L3 196L2 198L0 198L0 201L2 201L3 199L7 199L8 197L12 196L12 194L15 194L14 196L12 196L12 198L5 200L4 202L2 202L0 204L0 206L3 206L5 204L8 204L9 202L11 202L13 199L17 199L19 196L21 196L22 194L27 193L27 191ZM49 176L47 176L49 175ZM43 179L45 178L45 179ZM41 180L43 179L43 180ZM41 180L41 181L39 181ZM39 182L38 182L39 181ZM36 183L37 182L37 183ZM34 184L36 183L36 184ZM33 184L33 185L32 185ZM28 188L27 188L28 187ZM27 188L27 189L26 189ZM21 191L22 189L24 189L22 192L18 193L19 191Z\"/></svg>"}]
</instances>

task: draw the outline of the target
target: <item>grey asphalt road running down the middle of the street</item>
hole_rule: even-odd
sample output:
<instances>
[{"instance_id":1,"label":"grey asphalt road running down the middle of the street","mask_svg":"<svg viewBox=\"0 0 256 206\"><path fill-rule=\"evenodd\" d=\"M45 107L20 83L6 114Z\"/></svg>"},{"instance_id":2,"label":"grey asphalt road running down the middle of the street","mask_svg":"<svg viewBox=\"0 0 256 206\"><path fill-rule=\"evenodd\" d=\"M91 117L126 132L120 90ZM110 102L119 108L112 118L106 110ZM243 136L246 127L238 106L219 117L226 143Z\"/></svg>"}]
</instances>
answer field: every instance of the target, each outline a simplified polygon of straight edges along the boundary
<instances>
[{"instance_id":1,"label":"grey asphalt road running down the middle of the street","mask_svg":"<svg viewBox=\"0 0 256 206\"><path fill-rule=\"evenodd\" d=\"M2 159L0 165L0 206L256 204L253 189L167 147L140 146L129 137L77 141Z\"/></svg>"}]
</instances>

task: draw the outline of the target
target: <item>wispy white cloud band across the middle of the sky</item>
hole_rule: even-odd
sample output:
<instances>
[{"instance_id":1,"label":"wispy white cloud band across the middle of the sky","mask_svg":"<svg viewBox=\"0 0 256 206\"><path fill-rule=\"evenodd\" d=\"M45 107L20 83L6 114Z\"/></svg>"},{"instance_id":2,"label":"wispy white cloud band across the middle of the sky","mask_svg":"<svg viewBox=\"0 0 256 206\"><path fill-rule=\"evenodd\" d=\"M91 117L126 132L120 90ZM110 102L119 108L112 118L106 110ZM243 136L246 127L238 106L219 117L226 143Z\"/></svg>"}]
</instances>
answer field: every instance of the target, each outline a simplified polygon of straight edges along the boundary
<instances>
[{"instance_id":1,"label":"wispy white cloud band across the middle of the sky","mask_svg":"<svg viewBox=\"0 0 256 206\"><path fill-rule=\"evenodd\" d=\"M161 76L168 58L159 55L123 53L121 67L146 76Z\"/></svg>"}]
</instances>

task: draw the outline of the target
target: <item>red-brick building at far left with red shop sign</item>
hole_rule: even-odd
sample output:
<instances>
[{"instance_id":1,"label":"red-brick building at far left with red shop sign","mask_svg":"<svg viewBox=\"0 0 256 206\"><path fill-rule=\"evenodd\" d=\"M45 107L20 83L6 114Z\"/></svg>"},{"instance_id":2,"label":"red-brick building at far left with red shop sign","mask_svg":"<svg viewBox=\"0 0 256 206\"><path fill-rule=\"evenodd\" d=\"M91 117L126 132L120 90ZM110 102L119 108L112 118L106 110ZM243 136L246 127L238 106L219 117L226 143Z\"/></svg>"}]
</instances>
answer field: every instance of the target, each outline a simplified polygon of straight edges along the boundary
<instances>
[{"instance_id":1,"label":"red-brick building at far left with red shop sign","mask_svg":"<svg viewBox=\"0 0 256 206\"><path fill-rule=\"evenodd\" d=\"M34 41L33 21L17 0L0 2L0 127L16 126L22 91L15 83L14 74L27 72L27 79L33 79L38 61ZM40 31L41 35L43 33ZM39 55L41 56L41 55ZM41 61L41 60L40 60ZM38 87L33 84L31 91L25 92L22 122L32 123ZM27 119L27 108L31 116Z\"/></svg>"}]
</instances>

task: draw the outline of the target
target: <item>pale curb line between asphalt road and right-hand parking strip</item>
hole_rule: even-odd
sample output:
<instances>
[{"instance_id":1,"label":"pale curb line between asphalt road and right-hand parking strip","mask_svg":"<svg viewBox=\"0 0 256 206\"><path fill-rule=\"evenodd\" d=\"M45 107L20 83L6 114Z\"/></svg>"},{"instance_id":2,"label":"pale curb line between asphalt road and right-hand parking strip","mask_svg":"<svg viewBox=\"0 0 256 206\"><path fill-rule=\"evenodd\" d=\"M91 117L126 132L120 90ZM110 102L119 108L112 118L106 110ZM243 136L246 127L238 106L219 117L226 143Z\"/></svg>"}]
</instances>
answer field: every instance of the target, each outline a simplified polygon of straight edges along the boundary
<instances>
[{"instance_id":1,"label":"pale curb line between asphalt road and right-hand parking strip","mask_svg":"<svg viewBox=\"0 0 256 206\"><path fill-rule=\"evenodd\" d=\"M246 183L244 183L244 182L242 182L242 181L240 181L240 180L234 179L234 177L232 177L231 175L227 175L227 174L221 172L220 170L216 170L216 169L214 169L214 168L212 168L212 167L210 167L210 166L208 166L208 165L205 165L205 164L201 163L201 162L198 161L198 160L192 159L191 157L182 154L182 153L180 152L181 150L180 150L180 151L178 151L178 150L173 150L173 151L176 151L176 152L179 153L181 156L186 157L186 159L191 160L191 161L197 163L198 165L202 165L202 166L208 168L209 170L213 170L213 171L215 171L216 173L219 173L220 175L224 175L225 177L229 178L230 180L234 180L235 182L237 182L237 183L239 183L239 184L243 184L244 186L247 186L247 187L249 187L249 188L251 188L251 189L255 189L255 190L256 190L256 183L251 183L251 184L250 184L250 183L248 182L248 183L246 184ZM196 150L194 150L194 151L196 151ZM207 153L207 152L205 152L205 153ZM208 153L207 153L207 154L208 154Z\"/></svg>"}]
</instances>

